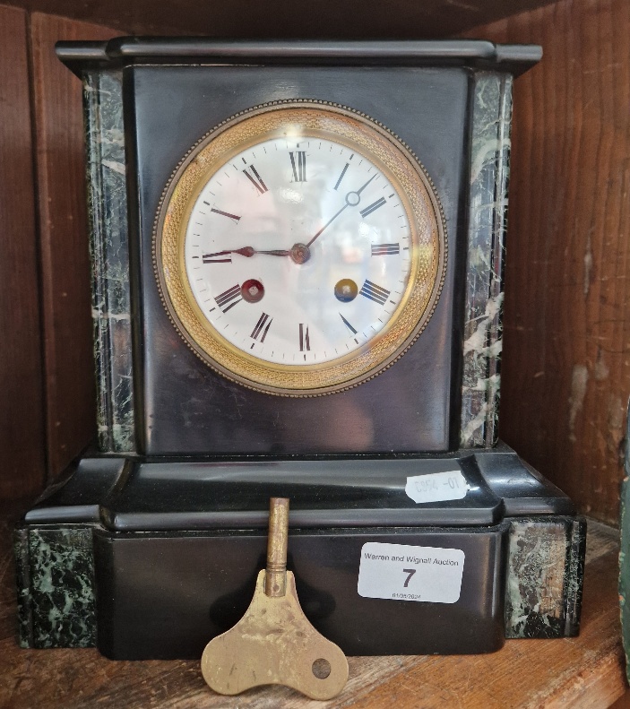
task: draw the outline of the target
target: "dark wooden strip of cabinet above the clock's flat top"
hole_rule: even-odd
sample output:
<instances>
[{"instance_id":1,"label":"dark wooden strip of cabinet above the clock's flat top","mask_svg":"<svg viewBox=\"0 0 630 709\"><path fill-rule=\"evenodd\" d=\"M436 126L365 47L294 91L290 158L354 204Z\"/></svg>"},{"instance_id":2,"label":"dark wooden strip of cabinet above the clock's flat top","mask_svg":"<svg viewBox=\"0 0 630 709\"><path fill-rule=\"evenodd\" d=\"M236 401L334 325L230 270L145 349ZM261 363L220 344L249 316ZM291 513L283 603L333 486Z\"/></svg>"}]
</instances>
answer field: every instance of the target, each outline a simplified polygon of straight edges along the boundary
<instances>
[{"instance_id":1,"label":"dark wooden strip of cabinet above the clock's flat top","mask_svg":"<svg viewBox=\"0 0 630 709\"><path fill-rule=\"evenodd\" d=\"M549 0L11 0L30 11L116 27L134 34L192 34L240 38L407 38L444 37L492 22Z\"/></svg>"}]
</instances>

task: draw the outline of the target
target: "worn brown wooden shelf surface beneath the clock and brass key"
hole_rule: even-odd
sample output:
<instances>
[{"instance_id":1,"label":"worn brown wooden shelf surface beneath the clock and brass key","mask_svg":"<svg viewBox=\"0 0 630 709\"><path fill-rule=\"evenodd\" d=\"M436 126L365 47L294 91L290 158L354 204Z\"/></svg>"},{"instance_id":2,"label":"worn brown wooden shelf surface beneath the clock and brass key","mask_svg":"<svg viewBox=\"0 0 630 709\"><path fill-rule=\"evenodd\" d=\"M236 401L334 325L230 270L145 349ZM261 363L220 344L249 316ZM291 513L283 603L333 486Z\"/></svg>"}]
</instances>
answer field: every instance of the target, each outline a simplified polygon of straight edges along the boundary
<instances>
[{"instance_id":1,"label":"worn brown wooden shelf surface beneath the clock and brass key","mask_svg":"<svg viewBox=\"0 0 630 709\"><path fill-rule=\"evenodd\" d=\"M0 508L0 706L221 707L221 709L598 709L626 690L617 606L618 532L590 523L581 635L510 640L498 653L470 656L351 657L341 695L311 701L285 687L235 697L211 692L198 661L108 661L96 650L20 650L9 521ZM422 632L422 628L418 628Z\"/></svg>"}]
</instances>

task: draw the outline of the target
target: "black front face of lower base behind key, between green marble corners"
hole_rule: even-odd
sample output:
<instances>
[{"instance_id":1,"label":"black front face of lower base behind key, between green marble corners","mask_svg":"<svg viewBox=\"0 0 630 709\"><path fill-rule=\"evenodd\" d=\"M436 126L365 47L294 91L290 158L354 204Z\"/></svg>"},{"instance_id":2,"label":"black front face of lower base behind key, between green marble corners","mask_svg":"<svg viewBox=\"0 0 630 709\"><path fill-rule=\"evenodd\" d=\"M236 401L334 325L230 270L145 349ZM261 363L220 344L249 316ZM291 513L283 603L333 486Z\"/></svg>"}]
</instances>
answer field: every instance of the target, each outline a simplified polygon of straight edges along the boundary
<instances>
[{"instance_id":1,"label":"black front face of lower base behind key, between green marble corners","mask_svg":"<svg viewBox=\"0 0 630 709\"><path fill-rule=\"evenodd\" d=\"M344 653L488 653L505 639L508 528L300 530L289 534L288 568L306 617ZM469 561L460 600L359 596L361 549L370 541L462 549ZM245 613L265 549L263 532L99 532L100 652L115 659L199 657Z\"/></svg>"}]
</instances>

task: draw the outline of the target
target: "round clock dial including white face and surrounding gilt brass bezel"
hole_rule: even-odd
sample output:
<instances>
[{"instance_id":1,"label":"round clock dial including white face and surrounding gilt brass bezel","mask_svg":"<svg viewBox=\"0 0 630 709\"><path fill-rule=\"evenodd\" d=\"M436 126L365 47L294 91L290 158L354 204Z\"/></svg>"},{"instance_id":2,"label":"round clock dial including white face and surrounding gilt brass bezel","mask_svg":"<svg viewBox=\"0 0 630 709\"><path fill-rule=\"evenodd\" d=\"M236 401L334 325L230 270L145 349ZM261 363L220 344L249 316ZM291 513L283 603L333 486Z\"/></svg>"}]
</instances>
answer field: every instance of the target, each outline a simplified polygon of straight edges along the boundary
<instances>
[{"instance_id":1,"label":"round clock dial including white face and surrounding gilt brass bezel","mask_svg":"<svg viewBox=\"0 0 630 709\"><path fill-rule=\"evenodd\" d=\"M197 354L248 386L357 385L401 356L439 296L444 226L430 181L347 110L280 104L229 121L183 162L164 204L168 312Z\"/></svg>"}]
</instances>

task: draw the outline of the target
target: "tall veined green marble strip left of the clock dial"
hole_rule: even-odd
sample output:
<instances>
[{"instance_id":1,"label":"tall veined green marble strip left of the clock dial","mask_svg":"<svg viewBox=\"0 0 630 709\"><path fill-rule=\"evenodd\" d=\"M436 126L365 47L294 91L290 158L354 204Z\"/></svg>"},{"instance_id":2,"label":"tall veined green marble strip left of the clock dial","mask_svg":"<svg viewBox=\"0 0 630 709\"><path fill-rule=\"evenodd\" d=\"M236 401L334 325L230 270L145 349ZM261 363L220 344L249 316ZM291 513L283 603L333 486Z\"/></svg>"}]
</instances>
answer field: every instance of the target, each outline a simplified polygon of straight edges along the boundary
<instances>
[{"instance_id":1,"label":"tall veined green marble strip left of the clock dial","mask_svg":"<svg viewBox=\"0 0 630 709\"><path fill-rule=\"evenodd\" d=\"M99 446L112 453L135 448L122 90L122 72L84 77Z\"/></svg>"}]
</instances>

